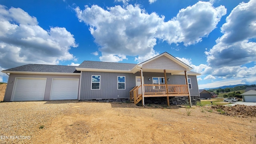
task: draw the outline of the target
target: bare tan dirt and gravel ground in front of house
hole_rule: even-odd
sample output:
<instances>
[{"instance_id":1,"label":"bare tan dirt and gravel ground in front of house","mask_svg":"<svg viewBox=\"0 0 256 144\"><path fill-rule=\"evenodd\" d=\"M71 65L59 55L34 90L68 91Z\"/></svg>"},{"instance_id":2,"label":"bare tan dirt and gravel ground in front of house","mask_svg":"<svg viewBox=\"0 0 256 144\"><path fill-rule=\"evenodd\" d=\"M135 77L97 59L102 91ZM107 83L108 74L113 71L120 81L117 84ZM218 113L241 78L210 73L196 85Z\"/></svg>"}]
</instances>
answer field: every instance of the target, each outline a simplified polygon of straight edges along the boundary
<instances>
[{"instance_id":1,"label":"bare tan dirt and gravel ground in front of house","mask_svg":"<svg viewBox=\"0 0 256 144\"><path fill-rule=\"evenodd\" d=\"M227 116L210 106L64 100L1 102L0 109L1 143L256 143L256 116Z\"/></svg>"}]
</instances>

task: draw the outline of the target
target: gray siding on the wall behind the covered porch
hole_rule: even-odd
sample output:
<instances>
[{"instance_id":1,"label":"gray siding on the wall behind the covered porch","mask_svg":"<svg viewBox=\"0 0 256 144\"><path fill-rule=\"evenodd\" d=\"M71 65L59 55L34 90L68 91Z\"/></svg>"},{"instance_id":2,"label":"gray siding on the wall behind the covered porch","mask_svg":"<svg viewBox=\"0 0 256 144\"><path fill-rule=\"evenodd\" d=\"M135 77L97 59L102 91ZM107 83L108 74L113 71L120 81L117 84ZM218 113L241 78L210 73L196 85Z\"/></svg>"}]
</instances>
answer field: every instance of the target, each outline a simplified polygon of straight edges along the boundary
<instances>
[{"instance_id":1,"label":"gray siding on the wall behind the covered porch","mask_svg":"<svg viewBox=\"0 0 256 144\"><path fill-rule=\"evenodd\" d=\"M140 72L135 74L140 76ZM153 84L152 77L164 77L164 72L143 72L144 84ZM148 80L150 77L150 81ZM167 81L167 84L186 84L185 75L171 75L171 73L166 73L166 78L170 78L170 81ZM191 79L192 89L190 89L190 96L200 96L198 91L198 83L196 76L188 76Z\"/></svg>"}]
</instances>

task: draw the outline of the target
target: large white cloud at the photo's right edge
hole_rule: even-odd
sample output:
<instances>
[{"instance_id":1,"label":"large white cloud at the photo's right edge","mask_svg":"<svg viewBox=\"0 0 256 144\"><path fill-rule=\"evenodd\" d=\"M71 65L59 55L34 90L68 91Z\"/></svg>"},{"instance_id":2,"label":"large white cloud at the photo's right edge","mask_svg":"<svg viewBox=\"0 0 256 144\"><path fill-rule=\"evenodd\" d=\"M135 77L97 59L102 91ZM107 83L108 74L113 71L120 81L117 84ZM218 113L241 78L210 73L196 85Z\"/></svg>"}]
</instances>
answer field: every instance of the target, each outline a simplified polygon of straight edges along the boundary
<instances>
[{"instance_id":1,"label":"large white cloud at the photo's right edge","mask_svg":"<svg viewBox=\"0 0 256 144\"><path fill-rule=\"evenodd\" d=\"M256 0L240 3L222 25L223 35L217 44L206 51L207 62L212 67L240 66L256 61Z\"/></svg>"}]
</instances>

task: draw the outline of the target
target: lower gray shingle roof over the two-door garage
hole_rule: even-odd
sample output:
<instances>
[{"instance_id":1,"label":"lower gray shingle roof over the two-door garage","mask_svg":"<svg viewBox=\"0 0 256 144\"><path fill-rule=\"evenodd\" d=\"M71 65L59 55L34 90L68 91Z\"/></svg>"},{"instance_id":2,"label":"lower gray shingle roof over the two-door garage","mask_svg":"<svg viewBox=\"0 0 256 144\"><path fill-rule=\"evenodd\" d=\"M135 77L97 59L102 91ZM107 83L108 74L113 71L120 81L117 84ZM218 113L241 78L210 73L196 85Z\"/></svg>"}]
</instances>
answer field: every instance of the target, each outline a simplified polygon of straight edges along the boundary
<instances>
[{"instance_id":1,"label":"lower gray shingle roof over the two-door garage","mask_svg":"<svg viewBox=\"0 0 256 144\"><path fill-rule=\"evenodd\" d=\"M77 66L61 66L61 65L47 65L47 64L26 64L10 68L4 71L16 72L63 72L63 73L80 73L76 70Z\"/></svg>"}]
</instances>

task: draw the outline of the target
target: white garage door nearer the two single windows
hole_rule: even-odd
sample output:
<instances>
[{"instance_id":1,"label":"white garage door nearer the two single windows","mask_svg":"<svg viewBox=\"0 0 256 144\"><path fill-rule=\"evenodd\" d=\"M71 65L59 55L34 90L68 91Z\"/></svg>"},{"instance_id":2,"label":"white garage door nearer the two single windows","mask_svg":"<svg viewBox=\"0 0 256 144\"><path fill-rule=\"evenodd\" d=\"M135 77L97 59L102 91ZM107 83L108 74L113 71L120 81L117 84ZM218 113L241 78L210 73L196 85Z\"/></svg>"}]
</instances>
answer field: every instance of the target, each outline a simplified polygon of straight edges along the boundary
<instances>
[{"instance_id":1,"label":"white garage door nearer the two single windows","mask_svg":"<svg viewBox=\"0 0 256 144\"><path fill-rule=\"evenodd\" d=\"M50 100L77 99L78 83L78 78L53 78Z\"/></svg>"}]
</instances>

